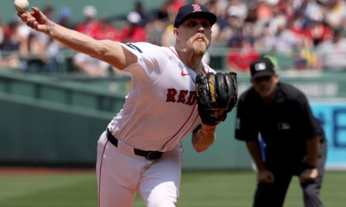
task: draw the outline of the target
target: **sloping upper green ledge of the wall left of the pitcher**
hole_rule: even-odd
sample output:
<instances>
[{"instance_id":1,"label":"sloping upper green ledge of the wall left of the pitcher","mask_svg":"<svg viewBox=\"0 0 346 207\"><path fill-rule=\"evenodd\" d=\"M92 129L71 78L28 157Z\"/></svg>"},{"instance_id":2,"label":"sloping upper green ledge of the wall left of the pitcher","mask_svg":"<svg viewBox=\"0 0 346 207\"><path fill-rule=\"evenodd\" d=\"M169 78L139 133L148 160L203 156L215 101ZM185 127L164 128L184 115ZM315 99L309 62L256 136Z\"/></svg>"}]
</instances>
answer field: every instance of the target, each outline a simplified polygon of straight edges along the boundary
<instances>
[{"instance_id":1,"label":"sloping upper green ledge of the wall left of the pitcher","mask_svg":"<svg viewBox=\"0 0 346 207\"><path fill-rule=\"evenodd\" d=\"M93 110L116 112L122 108L129 92L128 77L80 80L0 70L0 92Z\"/></svg>"}]
</instances>

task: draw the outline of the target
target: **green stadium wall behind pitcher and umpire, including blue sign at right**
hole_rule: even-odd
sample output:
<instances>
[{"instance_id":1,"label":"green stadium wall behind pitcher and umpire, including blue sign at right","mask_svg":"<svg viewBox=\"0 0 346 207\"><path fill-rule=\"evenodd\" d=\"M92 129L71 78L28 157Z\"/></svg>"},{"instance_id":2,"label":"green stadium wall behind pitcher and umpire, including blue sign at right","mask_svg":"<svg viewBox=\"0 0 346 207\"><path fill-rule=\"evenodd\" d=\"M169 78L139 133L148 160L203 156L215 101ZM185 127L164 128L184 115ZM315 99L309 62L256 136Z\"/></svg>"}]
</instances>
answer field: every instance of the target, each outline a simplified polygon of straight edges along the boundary
<instances>
[{"instance_id":1,"label":"green stadium wall behind pitcher and umpire, including blue sign at right","mask_svg":"<svg viewBox=\"0 0 346 207\"><path fill-rule=\"evenodd\" d=\"M282 72L280 77L304 90L313 103L338 103L332 110L323 106L317 111L326 117L333 155L343 156L345 75ZM242 93L248 76L239 75L238 81ZM129 77L85 79L0 70L0 164L93 166L97 140L122 108L128 90ZM183 139L184 169L251 168L244 142L234 138L235 112L219 125L215 144L207 151L197 153L191 137Z\"/></svg>"}]
</instances>

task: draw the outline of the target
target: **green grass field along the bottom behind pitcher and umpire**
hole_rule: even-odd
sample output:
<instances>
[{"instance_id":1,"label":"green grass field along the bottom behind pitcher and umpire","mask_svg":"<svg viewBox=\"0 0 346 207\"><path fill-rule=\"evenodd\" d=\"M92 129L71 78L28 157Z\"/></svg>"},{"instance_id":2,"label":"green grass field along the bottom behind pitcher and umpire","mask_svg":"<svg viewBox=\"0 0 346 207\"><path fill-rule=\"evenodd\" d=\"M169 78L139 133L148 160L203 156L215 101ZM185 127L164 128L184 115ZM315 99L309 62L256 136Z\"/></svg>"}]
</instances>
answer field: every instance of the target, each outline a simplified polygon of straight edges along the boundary
<instances>
[{"instance_id":1,"label":"green grass field along the bottom behind pitcher and umpire","mask_svg":"<svg viewBox=\"0 0 346 207\"><path fill-rule=\"evenodd\" d=\"M322 199L327 207L346 206L346 172L327 172ZM95 172L0 175L1 207L97 206ZM179 207L251 206L255 172L183 172ZM134 207L144 207L137 196ZM302 195L295 177L285 207L301 207Z\"/></svg>"}]
</instances>

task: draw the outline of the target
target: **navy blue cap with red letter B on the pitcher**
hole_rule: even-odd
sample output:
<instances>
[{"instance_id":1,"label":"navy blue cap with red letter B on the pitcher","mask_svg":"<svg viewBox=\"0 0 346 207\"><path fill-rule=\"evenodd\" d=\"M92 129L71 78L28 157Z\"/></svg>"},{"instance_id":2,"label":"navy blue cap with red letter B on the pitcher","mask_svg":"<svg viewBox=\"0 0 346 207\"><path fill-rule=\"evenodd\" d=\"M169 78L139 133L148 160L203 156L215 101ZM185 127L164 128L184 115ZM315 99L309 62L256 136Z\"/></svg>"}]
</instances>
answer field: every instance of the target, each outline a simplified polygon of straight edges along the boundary
<instances>
[{"instance_id":1,"label":"navy blue cap with red letter B on the pitcher","mask_svg":"<svg viewBox=\"0 0 346 207\"><path fill-rule=\"evenodd\" d=\"M199 3L188 3L179 8L178 14L174 19L174 28L178 28L181 23L190 17L204 17L209 20L210 25L217 21L217 17L208 8L201 6Z\"/></svg>"}]
</instances>

